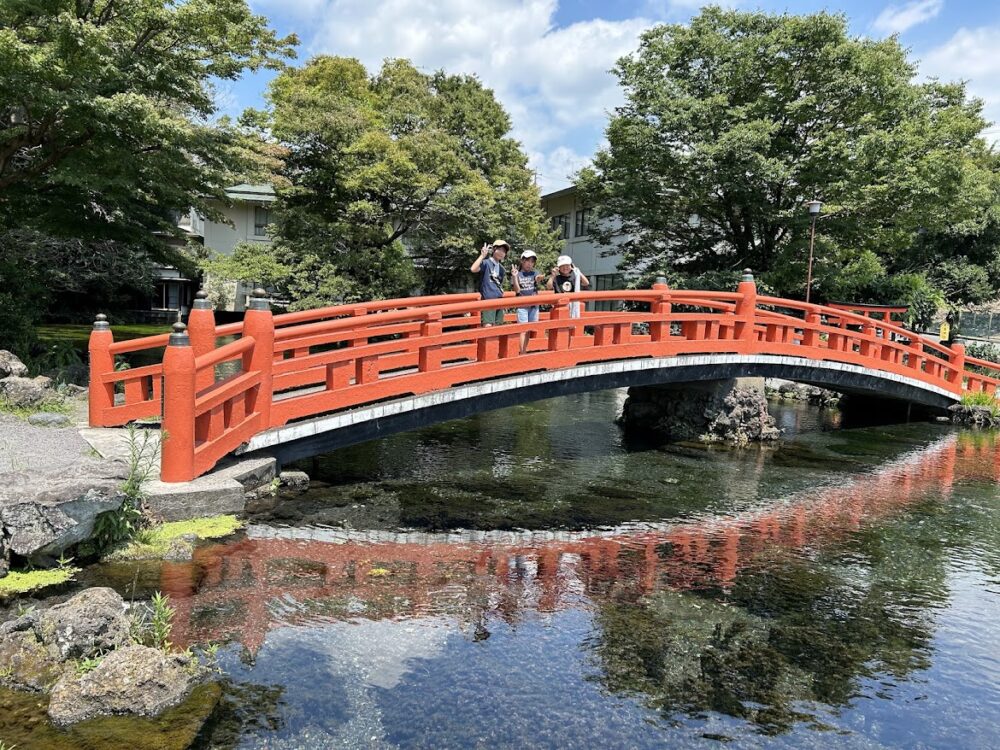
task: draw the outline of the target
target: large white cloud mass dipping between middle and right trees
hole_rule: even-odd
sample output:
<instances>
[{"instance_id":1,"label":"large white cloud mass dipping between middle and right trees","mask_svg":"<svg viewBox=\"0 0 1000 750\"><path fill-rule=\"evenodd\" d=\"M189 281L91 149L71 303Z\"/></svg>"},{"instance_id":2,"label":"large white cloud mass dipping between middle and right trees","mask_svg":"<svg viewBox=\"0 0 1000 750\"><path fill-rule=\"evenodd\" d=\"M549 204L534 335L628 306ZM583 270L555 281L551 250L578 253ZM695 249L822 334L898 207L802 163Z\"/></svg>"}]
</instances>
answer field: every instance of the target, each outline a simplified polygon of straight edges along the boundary
<instances>
[{"instance_id":1,"label":"large white cloud mass dipping between middle and right trees","mask_svg":"<svg viewBox=\"0 0 1000 750\"><path fill-rule=\"evenodd\" d=\"M650 21L590 19L557 27L556 0L256 0L293 6L314 31L306 54L348 55L375 71L403 57L424 70L473 74L495 92L514 136L544 175L575 171L621 102L615 61ZM544 180L544 181L543 181ZM544 189L561 187L539 178Z\"/></svg>"}]
</instances>

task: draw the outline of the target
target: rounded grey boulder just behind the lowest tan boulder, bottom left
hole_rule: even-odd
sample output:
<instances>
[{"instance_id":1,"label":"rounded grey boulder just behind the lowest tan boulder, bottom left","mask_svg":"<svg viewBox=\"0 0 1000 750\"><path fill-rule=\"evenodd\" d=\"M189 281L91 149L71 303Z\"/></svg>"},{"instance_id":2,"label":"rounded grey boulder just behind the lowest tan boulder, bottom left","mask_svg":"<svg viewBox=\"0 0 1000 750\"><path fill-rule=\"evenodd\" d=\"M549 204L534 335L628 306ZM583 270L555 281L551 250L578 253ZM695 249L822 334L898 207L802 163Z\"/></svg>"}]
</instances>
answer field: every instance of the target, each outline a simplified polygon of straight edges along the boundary
<instances>
[{"instance_id":1,"label":"rounded grey boulder just behind the lowest tan boulder, bottom left","mask_svg":"<svg viewBox=\"0 0 1000 750\"><path fill-rule=\"evenodd\" d=\"M60 659L90 659L130 642L125 602L109 588L81 591L38 618L42 643Z\"/></svg>"}]
</instances>

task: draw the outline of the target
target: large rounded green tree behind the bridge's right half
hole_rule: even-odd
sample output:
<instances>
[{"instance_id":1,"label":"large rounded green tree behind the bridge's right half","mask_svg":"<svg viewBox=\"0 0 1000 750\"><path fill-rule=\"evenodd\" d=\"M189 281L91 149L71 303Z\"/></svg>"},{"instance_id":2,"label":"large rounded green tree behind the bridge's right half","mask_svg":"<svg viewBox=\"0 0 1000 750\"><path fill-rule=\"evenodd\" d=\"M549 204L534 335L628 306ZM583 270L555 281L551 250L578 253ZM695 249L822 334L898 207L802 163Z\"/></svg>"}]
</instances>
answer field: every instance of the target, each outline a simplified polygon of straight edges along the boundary
<instances>
[{"instance_id":1,"label":"large rounded green tree behind the bridge's right half","mask_svg":"<svg viewBox=\"0 0 1000 750\"><path fill-rule=\"evenodd\" d=\"M921 237L981 232L996 202L981 102L960 83L914 83L895 37L850 37L844 16L708 7L644 33L615 72L626 101L580 181L602 239L631 236L633 269L747 266L803 295L818 197L813 296L869 296L928 270Z\"/></svg>"}]
</instances>

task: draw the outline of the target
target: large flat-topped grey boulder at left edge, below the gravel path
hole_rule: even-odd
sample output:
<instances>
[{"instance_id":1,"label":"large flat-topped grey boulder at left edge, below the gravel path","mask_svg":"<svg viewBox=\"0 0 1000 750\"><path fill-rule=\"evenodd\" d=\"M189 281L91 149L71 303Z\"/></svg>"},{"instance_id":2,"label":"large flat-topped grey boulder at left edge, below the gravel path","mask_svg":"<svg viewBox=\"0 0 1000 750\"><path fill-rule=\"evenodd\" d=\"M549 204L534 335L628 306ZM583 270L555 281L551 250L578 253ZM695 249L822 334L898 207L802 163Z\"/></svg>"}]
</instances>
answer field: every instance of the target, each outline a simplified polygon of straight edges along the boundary
<instances>
[{"instance_id":1,"label":"large flat-topped grey boulder at left edge, below the gravel path","mask_svg":"<svg viewBox=\"0 0 1000 750\"><path fill-rule=\"evenodd\" d=\"M44 563L89 539L101 513L121 508L122 463L81 460L58 475L8 473L0 486L0 535L8 553Z\"/></svg>"}]
</instances>

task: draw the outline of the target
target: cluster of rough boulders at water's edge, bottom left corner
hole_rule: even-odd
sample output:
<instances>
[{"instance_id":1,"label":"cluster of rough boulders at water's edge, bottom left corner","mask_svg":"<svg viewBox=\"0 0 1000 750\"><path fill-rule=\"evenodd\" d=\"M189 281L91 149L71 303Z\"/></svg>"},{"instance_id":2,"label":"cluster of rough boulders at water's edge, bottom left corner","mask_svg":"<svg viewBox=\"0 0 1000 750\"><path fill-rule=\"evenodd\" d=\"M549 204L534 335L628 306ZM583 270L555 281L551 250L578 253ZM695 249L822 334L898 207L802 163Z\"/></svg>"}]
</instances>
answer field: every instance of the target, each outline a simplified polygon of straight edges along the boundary
<instances>
[{"instance_id":1,"label":"cluster of rough boulders at water's edge, bottom left corner","mask_svg":"<svg viewBox=\"0 0 1000 750\"><path fill-rule=\"evenodd\" d=\"M196 657L143 645L137 611L108 588L0 624L0 686L49 695L65 726L97 716L156 716L208 674Z\"/></svg>"}]
</instances>

